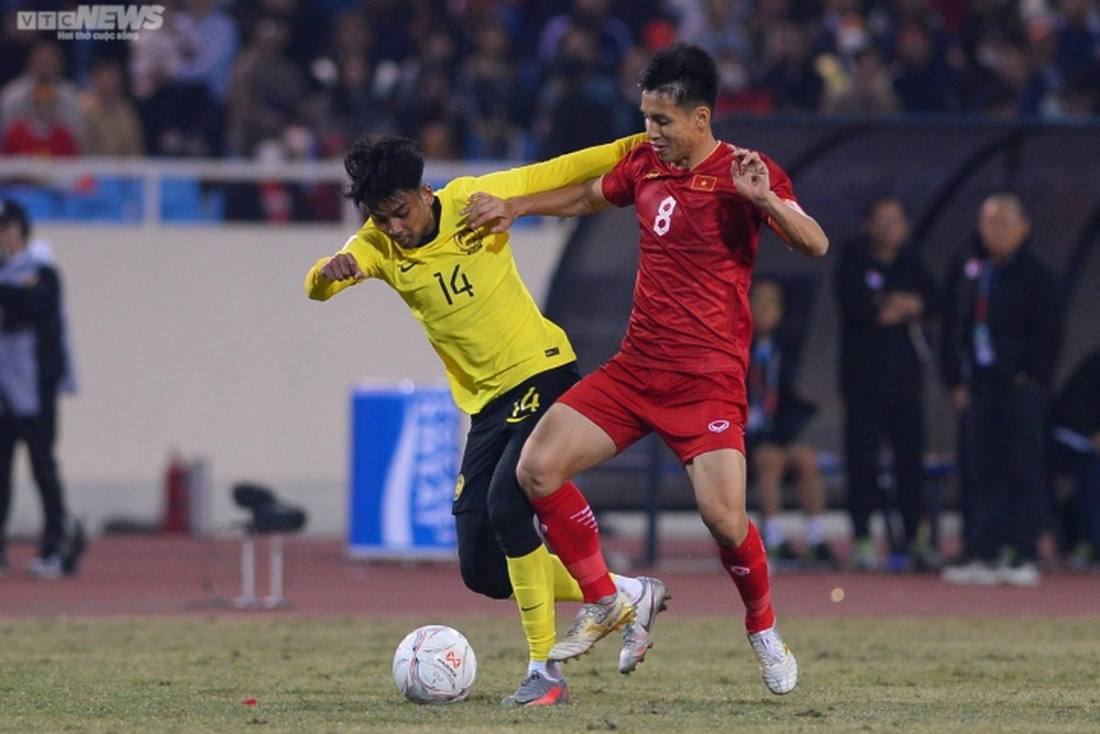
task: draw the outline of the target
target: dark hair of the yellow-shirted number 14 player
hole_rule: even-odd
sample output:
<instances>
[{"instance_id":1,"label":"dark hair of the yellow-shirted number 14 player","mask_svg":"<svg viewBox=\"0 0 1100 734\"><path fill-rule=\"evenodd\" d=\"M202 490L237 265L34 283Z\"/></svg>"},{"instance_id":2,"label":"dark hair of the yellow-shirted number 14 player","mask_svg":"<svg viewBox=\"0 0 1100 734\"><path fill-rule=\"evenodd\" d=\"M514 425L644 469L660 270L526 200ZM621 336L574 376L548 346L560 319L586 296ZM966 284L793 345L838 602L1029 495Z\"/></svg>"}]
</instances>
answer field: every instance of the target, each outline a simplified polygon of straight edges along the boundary
<instances>
[{"instance_id":1,"label":"dark hair of the yellow-shirted number 14 player","mask_svg":"<svg viewBox=\"0 0 1100 734\"><path fill-rule=\"evenodd\" d=\"M348 198L362 211L415 191L424 180L424 155L408 138L360 138L344 156Z\"/></svg>"}]
</instances>

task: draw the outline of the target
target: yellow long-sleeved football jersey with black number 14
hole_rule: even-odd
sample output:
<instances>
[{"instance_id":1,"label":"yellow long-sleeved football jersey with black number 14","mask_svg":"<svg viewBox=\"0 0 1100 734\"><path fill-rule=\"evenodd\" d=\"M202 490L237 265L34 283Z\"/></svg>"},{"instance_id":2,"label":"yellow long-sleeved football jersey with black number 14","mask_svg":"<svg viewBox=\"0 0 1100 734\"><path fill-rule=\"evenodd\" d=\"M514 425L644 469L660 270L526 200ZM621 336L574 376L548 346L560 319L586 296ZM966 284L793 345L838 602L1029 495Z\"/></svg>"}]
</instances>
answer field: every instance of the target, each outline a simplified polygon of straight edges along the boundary
<instances>
[{"instance_id":1,"label":"yellow long-sleeved football jersey with black number 14","mask_svg":"<svg viewBox=\"0 0 1100 734\"><path fill-rule=\"evenodd\" d=\"M576 359L562 329L544 318L519 277L508 233L473 231L462 209L475 191L502 198L538 194L600 176L645 140L644 134L569 153L543 163L455 178L436 193L439 234L402 248L367 220L343 247L369 278L393 287L424 326L443 360L454 402L475 414L531 375ZM306 294L327 300L355 284L306 276Z\"/></svg>"}]
</instances>

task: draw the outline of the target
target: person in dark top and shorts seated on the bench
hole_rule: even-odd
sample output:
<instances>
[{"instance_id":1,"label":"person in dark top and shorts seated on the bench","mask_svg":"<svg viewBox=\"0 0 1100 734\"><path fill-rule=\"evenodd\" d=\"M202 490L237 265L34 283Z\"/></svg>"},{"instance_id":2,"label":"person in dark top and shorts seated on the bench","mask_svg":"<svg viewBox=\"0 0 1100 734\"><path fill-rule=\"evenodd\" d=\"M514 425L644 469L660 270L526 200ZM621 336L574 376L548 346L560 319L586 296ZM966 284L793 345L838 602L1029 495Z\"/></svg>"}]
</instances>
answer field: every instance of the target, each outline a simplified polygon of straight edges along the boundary
<instances>
[{"instance_id":1,"label":"person in dark top and shorts seated on the bench","mask_svg":"<svg viewBox=\"0 0 1100 734\"><path fill-rule=\"evenodd\" d=\"M801 434L817 408L794 390L794 335L784 329L783 288L779 281L757 277L749 291L752 310L752 347L746 388L749 417L745 426L749 478L760 510L760 534L776 568L804 561L832 563L825 543L825 481L817 467L817 450ZM791 474L799 507L805 515L804 544L791 544L783 534L783 480Z\"/></svg>"}]
</instances>

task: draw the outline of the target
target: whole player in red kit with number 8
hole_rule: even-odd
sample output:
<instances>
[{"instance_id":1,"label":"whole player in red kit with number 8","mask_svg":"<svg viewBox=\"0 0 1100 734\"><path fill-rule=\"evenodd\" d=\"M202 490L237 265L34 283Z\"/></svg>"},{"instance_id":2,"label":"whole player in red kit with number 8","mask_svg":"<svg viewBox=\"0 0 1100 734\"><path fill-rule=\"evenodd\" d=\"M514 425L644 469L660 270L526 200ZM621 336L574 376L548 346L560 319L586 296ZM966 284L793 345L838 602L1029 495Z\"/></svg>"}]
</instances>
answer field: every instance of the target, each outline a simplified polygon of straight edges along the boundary
<instances>
[{"instance_id":1,"label":"whole player in red kit with number 8","mask_svg":"<svg viewBox=\"0 0 1100 734\"><path fill-rule=\"evenodd\" d=\"M584 593L550 657L582 655L631 618L634 609L608 576L592 511L571 480L656 431L683 462L745 603L765 683L788 693L798 662L776 632L768 558L745 507L748 292L761 224L811 258L825 254L828 239L778 165L714 138L717 72L705 51L675 44L657 53L639 86L649 142L610 173L528 197L475 195L466 209L471 226L497 220L494 227L506 229L519 216L634 204L641 227L634 310L620 351L547 412L517 470L550 544Z\"/></svg>"}]
</instances>

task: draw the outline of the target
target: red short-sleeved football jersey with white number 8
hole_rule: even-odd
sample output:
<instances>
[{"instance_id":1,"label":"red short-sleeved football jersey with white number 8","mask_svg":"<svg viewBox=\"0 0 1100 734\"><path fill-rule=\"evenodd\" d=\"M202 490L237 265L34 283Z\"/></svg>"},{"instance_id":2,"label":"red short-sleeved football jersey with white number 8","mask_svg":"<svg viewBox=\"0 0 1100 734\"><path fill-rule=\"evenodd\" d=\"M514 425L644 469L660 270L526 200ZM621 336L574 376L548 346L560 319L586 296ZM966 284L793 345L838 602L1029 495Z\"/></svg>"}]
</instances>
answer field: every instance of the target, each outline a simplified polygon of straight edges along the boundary
<instances>
[{"instance_id":1,"label":"red short-sleeved football jersey with white number 8","mask_svg":"<svg viewBox=\"0 0 1100 734\"><path fill-rule=\"evenodd\" d=\"M790 177L761 154L771 189L796 204ZM603 194L631 204L641 227L634 310L623 353L639 364L702 373L748 366L749 285L762 212L734 187L729 146L690 171L644 143L604 175Z\"/></svg>"}]
</instances>

